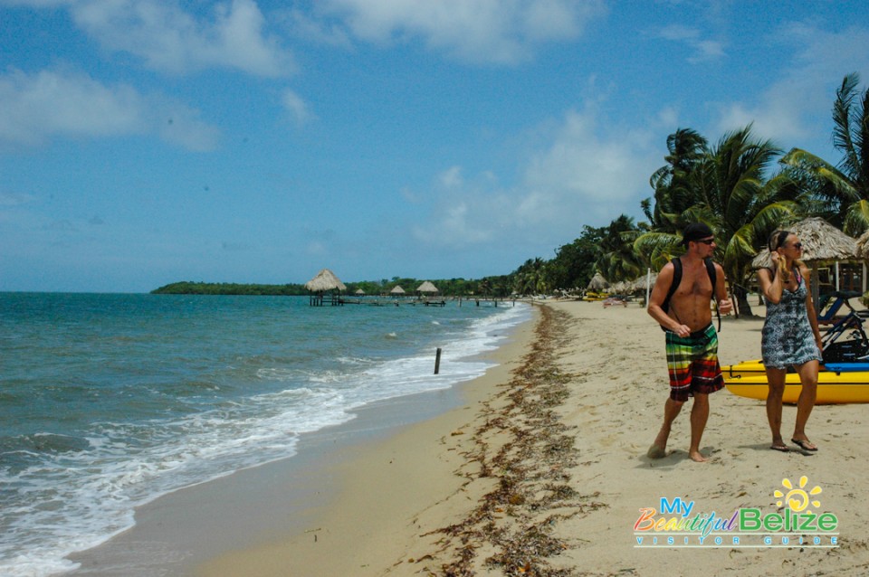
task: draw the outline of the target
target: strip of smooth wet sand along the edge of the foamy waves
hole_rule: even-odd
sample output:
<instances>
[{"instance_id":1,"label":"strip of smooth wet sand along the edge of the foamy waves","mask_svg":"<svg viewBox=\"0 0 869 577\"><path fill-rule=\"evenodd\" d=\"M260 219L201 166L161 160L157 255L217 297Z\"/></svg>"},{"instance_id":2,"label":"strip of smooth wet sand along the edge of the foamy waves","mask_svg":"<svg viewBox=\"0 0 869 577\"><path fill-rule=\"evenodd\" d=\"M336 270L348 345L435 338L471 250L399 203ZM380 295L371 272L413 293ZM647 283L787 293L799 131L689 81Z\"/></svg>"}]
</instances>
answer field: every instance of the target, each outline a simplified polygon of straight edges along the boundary
<instances>
[{"instance_id":1,"label":"strip of smooth wet sand along the edge of the foamy waves","mask_svg":"<svg viewBox=\"0 0 869 577\"><path fill-rule=\"evenodd\" d=\"M533 316L511 327L499 348L479 355L495 363L487 373L498 368L502 351L511 349ZM334 469L343 460L396 431L460 411L465 388L474 381L369 403L353 411L351 421L301 435L291 457L158 497L136 509L136 525L127 531L70 555L81 566L64 574L190 575L196 565L225 551L308 530L310 518L338 493Z\"/></svg>"}]
</instances>

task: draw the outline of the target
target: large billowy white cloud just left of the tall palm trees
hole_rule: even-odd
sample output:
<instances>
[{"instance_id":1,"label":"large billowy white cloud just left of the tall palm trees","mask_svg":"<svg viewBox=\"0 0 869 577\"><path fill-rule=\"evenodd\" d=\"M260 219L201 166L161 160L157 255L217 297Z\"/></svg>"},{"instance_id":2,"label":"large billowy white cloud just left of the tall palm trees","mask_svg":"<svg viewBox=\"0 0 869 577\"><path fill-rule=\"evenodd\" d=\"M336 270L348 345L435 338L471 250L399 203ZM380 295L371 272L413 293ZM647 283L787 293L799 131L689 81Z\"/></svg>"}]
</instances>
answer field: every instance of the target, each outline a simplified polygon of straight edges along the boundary
<instances>
[{"instance_id":1,"label":"large billowy white cloud just left of the tall palm trees","mask_svg":"<svg viewBox=\"0 0 869 577\"><path fill-rule=\"evenodd\" d=\"M597 117L592 109L568 112L550 132L549 145L520 166L520 182L511 189L501 188L491 173L465 179L461 166L445 169L435 180L429 222L413 229L416 240L551 249L576 238L582 224L638 213L640 199L651 194L649 175L662 164L659 135L615 127L605 137Z\"/></svg>"}]
</instances>

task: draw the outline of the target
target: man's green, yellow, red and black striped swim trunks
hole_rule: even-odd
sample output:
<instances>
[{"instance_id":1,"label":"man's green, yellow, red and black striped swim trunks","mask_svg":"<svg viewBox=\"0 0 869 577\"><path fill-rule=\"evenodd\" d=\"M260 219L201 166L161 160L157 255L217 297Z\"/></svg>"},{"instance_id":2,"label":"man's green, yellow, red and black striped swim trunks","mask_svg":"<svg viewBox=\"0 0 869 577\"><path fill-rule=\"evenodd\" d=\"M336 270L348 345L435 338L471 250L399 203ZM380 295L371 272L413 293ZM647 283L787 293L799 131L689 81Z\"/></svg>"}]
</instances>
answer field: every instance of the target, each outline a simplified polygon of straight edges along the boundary
<instances>
[{"instance_id":1,"label":"man's green, yellow, red and black striped swim trunks","mask_svg":"<svg viewBox=\"0 0 869 577\"><path fill-rule=\"evenodd\" d=\"M709 394L724 386L718 364L718 333L711 324L689 336L666 331L670 398L685 402L694 393Z\"/></svg>"}]
</instances>

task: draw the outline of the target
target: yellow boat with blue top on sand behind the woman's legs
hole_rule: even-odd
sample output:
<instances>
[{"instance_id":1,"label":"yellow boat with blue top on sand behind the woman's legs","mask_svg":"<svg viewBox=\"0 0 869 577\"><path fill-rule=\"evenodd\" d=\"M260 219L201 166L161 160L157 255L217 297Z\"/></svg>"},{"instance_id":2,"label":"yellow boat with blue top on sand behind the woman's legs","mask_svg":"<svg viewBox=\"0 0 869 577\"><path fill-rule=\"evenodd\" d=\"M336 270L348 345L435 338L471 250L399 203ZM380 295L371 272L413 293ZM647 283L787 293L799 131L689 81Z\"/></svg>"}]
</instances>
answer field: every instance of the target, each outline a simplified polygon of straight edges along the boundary
<instances>
[{"instance_id":1,"label":"yellow boat with blue top on sand behind the woman's legs","mask_svg":"<svg viewBox=\"0 0 869 577\"><path fill-rule=\"evenodd\" d=\"M721 367L724 385L731 393L749 399L765 401L769 386L763 362L745 361ZM796 403L802 385L799 375L788 373L782 400ZM816 404L869 402L869 363L822 364L817 374Z\"/></svg>"}]
</instances>

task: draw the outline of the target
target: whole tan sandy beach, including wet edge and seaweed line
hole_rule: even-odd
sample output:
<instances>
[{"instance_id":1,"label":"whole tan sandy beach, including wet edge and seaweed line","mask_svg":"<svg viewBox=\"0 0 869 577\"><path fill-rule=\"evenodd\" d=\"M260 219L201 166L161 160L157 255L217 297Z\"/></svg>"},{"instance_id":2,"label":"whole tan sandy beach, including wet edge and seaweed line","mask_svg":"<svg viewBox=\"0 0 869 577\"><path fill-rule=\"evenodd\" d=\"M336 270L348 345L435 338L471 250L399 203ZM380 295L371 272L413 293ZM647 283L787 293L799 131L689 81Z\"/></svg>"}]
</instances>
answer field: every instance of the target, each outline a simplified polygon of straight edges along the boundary
<instances>
[{"instance_id":1,"label":"whole tan sandy beach, including wet edge and seaweed line","mask_svg":"<svg viewBox=\"0 0 869 577\"><path fill-rule=\"evenodd\" d=\"M253 543L222 543L182 574L869 574L865 405L817 406L807 433L819 450L780 453L769 449L763 403L725 390L710 398L708 462L688 459L687 405L668 456L648 459L668 394L660 328L636 304L547 301L538 313L497 351L499 366L460 388L457 409L330 450L308 470L322 490L303 513L263 524ZM757 358L761 325L725 318L721 363ZM785 406L786 439L795 412ZM781 546L779 532L766 533L775 547L734 546L732 536L718 547L696 536L690 548L636 546L641 509L663 498L693 502L691 516L781 513L774 492L801 478L807 491L821 487L809 509L836 516L838 547L793 546L798 534ZM262 503L247 523L257 516L271 518ZM220 531L198 530L204 542ZM740 544L759 543L750 537Z\"/></svg>"}]
</instances>

